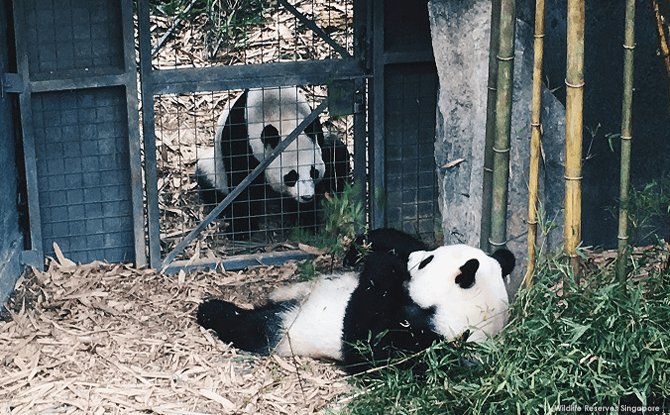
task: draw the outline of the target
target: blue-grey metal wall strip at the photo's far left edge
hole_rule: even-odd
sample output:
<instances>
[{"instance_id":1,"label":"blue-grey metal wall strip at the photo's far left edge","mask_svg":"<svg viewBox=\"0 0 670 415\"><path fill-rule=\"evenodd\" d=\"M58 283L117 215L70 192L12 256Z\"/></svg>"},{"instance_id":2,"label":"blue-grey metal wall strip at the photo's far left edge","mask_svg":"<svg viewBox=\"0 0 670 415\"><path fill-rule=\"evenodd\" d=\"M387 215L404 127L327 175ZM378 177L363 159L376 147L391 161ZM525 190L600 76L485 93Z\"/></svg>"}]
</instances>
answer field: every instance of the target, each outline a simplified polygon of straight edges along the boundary
<instances>
[{"instance_id":1,"label":"blue-grey metal wall strip at the photo's far left edge","mask_svg":"<svg viewBox=\"0 0 670 415\"><path fill-rule=\"evenodd\" d=\"M10 69L6 6L5 0L0 0L0 74ZM7 300L22 271L19 255L23 250L23 237L19 232L16 203L18 185L13 125L11 98L0 93L0 304Z\"/></svg>"}]
</instances>

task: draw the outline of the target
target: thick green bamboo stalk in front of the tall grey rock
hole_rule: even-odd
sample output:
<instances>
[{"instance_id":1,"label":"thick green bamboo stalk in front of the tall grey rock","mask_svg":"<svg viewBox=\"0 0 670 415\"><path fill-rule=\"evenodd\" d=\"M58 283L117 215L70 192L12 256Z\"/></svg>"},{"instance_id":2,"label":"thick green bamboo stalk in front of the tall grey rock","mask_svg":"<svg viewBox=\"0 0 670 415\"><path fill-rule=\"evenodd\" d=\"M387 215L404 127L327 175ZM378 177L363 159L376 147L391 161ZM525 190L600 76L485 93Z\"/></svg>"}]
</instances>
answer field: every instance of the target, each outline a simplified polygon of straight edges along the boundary
<instances>
[{"instance_id":1,"label":"thick green bamboo stalk in front of the tall grey rock","mask_svg":"<svg viewBox=\"0 0 670 415\"><path fill-rule=\"evenodd\" d=\"M509 181L512 90L514 85L515 0L500 2L500 46L498 48L498 93L496 136L493 143L493 200L491 201L491 249L507 243L507 183Z\"/></svg>"}]
</instances>

